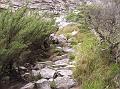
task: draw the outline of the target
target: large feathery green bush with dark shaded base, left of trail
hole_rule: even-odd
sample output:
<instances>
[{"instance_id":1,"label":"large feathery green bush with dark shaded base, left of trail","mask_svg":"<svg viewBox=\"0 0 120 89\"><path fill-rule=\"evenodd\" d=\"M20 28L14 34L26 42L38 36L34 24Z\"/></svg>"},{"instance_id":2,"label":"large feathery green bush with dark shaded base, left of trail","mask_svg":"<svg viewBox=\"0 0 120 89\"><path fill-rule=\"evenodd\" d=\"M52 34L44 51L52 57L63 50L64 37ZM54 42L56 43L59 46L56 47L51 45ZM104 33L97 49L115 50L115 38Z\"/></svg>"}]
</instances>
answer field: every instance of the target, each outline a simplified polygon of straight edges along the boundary
<instances>
[{"instance_id":1,"label":"large feathery green bush with dark shaded base, left of trail","mask_svg":"<svg viewBox=\"0 0 120 89\"><path fill-rule=\"evenodd\" d=\"M44 20L35 14L28 16L26 7L14 13L1 12L0 78L18 77L16 67L25 62L33 64L39 57L48 57L49 35L55 29L54 20Z\"/></svg>"}]
</instances>

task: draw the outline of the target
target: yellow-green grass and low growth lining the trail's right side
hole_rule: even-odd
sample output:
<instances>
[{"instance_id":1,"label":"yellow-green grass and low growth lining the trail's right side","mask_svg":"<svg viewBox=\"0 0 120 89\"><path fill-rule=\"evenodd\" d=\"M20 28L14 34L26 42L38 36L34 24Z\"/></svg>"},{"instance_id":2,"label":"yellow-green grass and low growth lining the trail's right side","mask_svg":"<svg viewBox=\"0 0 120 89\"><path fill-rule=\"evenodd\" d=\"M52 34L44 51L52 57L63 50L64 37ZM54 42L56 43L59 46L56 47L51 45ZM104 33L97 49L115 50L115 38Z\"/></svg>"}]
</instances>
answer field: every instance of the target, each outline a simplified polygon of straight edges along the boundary
<instances>
[{"instance_id":1,"label":"yellow-green grass and low growth lining the trail's right side","mask_svg":"<svg viewBox=\"0 0 120 89\"><path fill-rule=\"evenodd\" d=\"M75 49L75 53L70 54L70 58L77 61L73 70L74 77L82 89L119 89L120 65L112 61L110 50L106 49L108 43L101 43L91 32L85 16L83 13L69 14L67 19L77 24L68 25L58 32L66 35ZM76 21L76 18L79 18L79 21ZM78 31L78 34L72 36L73 31Z\"/></svg>"}]
</instances>

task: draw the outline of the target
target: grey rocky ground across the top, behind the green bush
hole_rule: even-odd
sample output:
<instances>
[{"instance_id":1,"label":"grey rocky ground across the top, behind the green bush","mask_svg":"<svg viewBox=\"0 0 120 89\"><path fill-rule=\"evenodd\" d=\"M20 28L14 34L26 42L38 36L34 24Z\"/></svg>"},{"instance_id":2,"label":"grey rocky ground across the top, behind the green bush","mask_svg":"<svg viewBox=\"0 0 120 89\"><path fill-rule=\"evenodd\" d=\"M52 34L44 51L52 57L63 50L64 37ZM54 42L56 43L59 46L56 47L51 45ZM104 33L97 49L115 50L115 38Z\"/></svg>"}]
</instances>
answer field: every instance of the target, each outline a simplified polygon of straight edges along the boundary
<instances>
[{"instance_id":1,"label":"grey rocky ground across the top, behind the green bush","mask_svg":"<svg viewBox=\"0 0 120 89\"><path fill-rule=\"evenodd\" d=\"M0 0L0 8L16 10L24 5L29 9L44 12L64 13L73 10L81 0Z\"/></svg>"}]
</instances>

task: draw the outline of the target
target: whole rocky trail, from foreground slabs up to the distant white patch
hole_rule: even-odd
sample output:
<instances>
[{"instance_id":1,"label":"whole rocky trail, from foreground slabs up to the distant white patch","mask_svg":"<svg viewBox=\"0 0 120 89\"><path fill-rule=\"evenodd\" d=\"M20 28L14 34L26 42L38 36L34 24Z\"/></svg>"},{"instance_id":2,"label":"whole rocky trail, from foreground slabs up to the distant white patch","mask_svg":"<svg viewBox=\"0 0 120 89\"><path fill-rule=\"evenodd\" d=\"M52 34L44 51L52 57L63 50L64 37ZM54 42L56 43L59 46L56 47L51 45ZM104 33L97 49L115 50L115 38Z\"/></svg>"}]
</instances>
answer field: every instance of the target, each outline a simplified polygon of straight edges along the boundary
<instances>
[{"instance_id":1,"label":"whole rocky trail, from foreground slabs up to the distant white patch","mask_svg":"<svg viewBox=\"0 0 120 89\"><path fill-rule=\"evenodd\" d=\"M64 16L57 18L56 23L59 28L71 24L64 19ZM10 89L79 89L73 78L72 70L75 67L75 61L68 55L74 52L71 43L63 34L53 33L50 35L50 40L54 42L55 50L63 54L54 56L49 61L37 62L33 67L29 64L20 67L23 71L22 77L28 83L22 86L19 84L19 88L16 85Z\"/></svg>"}]
</instances>

